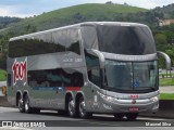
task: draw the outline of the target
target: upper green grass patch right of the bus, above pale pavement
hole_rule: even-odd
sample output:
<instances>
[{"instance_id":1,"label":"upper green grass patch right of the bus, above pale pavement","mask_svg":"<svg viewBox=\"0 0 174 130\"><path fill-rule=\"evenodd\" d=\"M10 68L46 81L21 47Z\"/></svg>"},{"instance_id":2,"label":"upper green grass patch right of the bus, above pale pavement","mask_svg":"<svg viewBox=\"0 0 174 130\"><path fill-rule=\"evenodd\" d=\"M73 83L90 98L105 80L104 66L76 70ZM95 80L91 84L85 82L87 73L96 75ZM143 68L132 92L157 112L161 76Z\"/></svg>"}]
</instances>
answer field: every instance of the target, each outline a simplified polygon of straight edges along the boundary
<instances>
[{"instance_id":1,"label":"upper green grass patch right of the bus, above pale pavement","mask_svg":"<svg viewBox=\"0 0 174 130\"><path fill-rule=\"evenodd\" d=\"M174 86L174 78L160 78L160 87Z\"/></svg>"}]
</instances>

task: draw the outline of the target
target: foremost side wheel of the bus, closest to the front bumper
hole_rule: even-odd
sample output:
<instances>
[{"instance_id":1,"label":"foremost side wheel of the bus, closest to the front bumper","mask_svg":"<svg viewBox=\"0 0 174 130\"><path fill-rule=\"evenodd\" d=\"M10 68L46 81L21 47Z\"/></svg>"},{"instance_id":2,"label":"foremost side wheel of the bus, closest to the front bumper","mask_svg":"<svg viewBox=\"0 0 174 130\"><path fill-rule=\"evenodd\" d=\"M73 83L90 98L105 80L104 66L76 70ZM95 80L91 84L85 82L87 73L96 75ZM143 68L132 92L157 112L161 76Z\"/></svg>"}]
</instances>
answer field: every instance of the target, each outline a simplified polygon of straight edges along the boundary
<instances>
[{"instance_id":1,"label":"foremost side wheel of the bus, closest to the front bumper","mask_svg":"<svg viewBox=\"0 0 174 130\"><path fill-rule=\"evenodd\" d=\"M91 118L92 117L91 113L87 113L85 110L85 101L84 101L83 96L79 99L78 110L79 110L79 117L80 118L87 119L87 118Z\"/></svg>"}]
</instances>

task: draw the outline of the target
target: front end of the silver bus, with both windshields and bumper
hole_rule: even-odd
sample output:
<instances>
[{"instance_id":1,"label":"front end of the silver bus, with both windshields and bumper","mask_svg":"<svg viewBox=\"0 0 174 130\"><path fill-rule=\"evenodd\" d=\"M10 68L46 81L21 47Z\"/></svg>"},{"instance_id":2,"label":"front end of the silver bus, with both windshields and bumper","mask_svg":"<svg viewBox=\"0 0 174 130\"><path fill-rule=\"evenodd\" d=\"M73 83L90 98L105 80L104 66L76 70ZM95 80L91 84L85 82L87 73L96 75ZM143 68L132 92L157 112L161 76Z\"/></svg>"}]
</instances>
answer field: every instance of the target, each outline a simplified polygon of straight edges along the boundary
<instances>
[{"instance_id":1,"label":"front end of the silver bus, with both windshields and bumper","mask_svg":"<svg viewBox=\"0 0 174 130\"><path fill-rule=\"evenodd\" d=\"M83 35L97 110L113 113L119 119L156 113L158 61L150 29L141 24L98 23L84 25Z\"/></svg>"}]
</instances>

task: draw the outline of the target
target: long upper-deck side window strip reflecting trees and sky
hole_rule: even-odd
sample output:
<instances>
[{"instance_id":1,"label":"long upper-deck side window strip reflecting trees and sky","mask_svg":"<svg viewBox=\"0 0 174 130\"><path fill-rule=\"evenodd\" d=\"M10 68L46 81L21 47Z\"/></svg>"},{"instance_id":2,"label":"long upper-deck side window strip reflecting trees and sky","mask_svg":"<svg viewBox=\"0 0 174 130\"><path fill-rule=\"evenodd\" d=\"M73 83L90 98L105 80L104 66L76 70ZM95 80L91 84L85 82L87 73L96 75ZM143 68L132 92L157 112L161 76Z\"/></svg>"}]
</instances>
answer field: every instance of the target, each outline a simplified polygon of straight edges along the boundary
<instances>
[{"instance_id":1,"label":"long upper-deck side window strip reflecting trees and sky","mask_svg":"<svg viewBox=\"0 0 174 130\"><path fill-rule=\"evenodd\" d=\"M73 51L80 54L77 29L44 34L9 43L9 56L20 57L46 53Z\"/></svg>"}]
</instances>

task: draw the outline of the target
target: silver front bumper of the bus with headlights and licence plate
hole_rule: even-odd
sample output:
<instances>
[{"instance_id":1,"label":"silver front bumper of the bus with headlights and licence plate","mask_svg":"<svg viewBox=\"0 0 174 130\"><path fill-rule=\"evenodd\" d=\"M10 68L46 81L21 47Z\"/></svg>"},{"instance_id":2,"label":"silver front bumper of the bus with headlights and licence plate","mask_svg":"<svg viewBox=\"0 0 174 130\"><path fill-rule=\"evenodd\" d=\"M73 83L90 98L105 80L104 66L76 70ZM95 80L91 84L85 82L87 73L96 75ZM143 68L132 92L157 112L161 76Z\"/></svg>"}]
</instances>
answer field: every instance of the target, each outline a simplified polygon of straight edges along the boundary
<instances>
[{"instance_id":1,"label":"silver front bumper of the bus with headlights and licence plate","mask_svg":"<svg viewBox=\"0 0 174 130\"><path fill-rule=\"evenodd\" d=\"M111 96L100 98L101 113L157 113L159 98L144 100L119 100Z\"/></svg>"}]
</instances>

